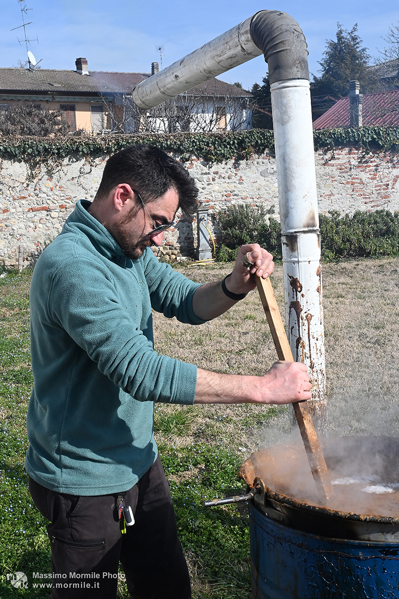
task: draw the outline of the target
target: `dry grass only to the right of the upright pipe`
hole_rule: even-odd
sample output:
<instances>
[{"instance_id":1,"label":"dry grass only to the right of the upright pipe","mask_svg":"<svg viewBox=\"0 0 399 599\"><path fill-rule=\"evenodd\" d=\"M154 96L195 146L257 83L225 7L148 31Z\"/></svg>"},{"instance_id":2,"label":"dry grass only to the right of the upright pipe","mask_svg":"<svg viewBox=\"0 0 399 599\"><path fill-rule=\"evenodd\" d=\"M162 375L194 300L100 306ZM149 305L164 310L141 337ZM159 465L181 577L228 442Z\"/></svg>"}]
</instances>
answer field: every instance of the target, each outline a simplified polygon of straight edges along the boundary
<instances>
[{"instance_id":1,"label":"dry grass only to the right of the upright pipe","mask_svg":"<svg viewBox=\"0 0 399 599\"><path fill-rule=\"evenodd\" d=\"M399 432L399 258L324 267L329 430Z\"/></svg>"}]
</instances>

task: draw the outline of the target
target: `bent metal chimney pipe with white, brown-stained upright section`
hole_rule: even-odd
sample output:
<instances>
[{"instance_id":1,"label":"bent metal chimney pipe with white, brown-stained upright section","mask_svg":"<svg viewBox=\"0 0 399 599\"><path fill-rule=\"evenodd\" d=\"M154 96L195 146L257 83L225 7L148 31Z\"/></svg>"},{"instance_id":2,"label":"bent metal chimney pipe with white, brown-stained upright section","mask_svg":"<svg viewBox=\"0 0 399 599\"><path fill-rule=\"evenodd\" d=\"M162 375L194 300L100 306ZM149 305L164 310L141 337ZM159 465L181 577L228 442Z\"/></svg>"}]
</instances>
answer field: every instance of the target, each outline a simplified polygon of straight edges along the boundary
<instances>
[{"instance_id":1,"label":"bent metal chimney pipe with white, brown-stained upright section","mask_svg":"<svg viewBox=\"0 0 399 599\"><path fill-rule=\"evenodd\" d=\"M284 263L288 340L312 377L308 402L327 428L321 261L307 44L287 13L263 10L160 71L133 90L151 108L264 54L269 65Z\"/></svg>"}]
</instances>

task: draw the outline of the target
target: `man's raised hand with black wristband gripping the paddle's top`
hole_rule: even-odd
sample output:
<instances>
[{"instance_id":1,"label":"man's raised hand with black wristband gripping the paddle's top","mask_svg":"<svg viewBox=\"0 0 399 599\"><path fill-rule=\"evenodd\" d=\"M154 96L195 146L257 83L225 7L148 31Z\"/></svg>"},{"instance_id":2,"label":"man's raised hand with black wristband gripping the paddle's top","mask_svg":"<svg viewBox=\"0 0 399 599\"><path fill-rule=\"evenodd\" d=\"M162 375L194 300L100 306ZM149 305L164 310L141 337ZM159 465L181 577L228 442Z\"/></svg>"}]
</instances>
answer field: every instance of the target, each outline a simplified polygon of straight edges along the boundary
<instances>
[{"instance_id":1,"label":"man's raised hand with black wristband gripping the paddle's top","mask_svg":"<svg viewBox=\"0 0 399 599\"><path fill-rule=\"evenodd\" d=\"M242 265L242 259L248 255L248 261L253 264L250 268ZM226 280L226 287L233 294L246 294L255 289L255 277L267 279L273 272L275 264L273 256L258 243L249 243L238 250L237 259L231 276Z\"/></svg>"}]
</instances>

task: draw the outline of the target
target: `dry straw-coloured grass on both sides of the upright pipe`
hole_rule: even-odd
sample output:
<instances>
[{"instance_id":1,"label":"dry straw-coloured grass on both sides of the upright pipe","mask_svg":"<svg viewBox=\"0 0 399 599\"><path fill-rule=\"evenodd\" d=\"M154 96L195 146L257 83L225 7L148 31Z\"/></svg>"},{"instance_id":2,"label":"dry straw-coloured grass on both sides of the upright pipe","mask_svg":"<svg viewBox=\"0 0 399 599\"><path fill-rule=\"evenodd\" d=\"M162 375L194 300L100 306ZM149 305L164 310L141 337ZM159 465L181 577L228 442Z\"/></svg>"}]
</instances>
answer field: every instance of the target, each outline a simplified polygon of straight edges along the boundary
<instances>
[{"instance_id":1,"label":"dry straw-coloured grass on both sides of the upright pipe","mask_svg":"<svg viewBox=\"0 0 399 599\"><path fill-rule=\"evenodd\" d=\"M203 283L220 280L231 270L231 265L181 268L185 276ZM398 273L399 258L323 265L330 434L399 432ZM281 264L275 267L272 284L284 317ZM157 351L208 370L259 375L276 360L256 290L226 314L198 327L155 313L154 330ZM246 450L278 442L289 431L288 416L284 409L282 415L269 410L244 405L194 406L188 440L218 439Z\"/></svg>"}]
</instances>

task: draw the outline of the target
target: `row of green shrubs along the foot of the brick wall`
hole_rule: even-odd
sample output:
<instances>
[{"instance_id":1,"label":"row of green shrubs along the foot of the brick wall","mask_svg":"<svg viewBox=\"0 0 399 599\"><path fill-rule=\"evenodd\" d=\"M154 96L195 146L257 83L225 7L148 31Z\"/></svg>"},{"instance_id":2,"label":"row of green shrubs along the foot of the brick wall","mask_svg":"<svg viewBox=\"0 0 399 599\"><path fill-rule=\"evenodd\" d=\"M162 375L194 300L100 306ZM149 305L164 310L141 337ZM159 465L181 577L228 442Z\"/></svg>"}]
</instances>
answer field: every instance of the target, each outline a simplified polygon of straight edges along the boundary
<instances>
[{"instance_id":1,"label":"row of green shrubs along the foot of the brick wall","mask_svg":"<svg viewBox=\"0 0 399 599\"><path fill-rule=\"evenodd\" d=\"M399 212L357 211L341 216L333 210L328 216L320 214L319 220L321 257L325 261L399 254ZM276 260L282 258L280 225L272 217L267 221L264 208L232 206L217 214L217 225L221 230L219 262L234 260L237 249L245 243L259 243Z\"/></svg>"}]
</instances>

